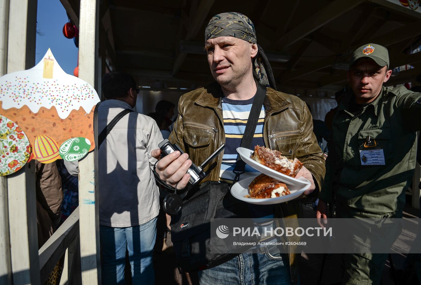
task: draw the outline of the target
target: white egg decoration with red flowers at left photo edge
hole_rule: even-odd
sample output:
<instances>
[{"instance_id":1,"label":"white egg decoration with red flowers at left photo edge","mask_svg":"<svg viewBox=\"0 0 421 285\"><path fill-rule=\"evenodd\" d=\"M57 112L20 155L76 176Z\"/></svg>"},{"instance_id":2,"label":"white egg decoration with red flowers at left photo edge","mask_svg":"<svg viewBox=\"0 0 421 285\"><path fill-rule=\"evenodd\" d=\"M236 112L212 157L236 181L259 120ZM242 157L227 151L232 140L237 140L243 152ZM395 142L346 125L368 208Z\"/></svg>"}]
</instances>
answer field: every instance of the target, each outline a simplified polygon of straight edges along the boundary
<instances>
[{"instance_id":1,"label":"white egg decoration with red flowers at left photo edge","mask_svg":"<svg viewBox=\"0 0 421 285\"><path fill-rule=\"evenodd\" d=\"M27 135L17 124L0 115L0 175L9 175L21 169L30 154Z\"/></svg>"}]
</instances>

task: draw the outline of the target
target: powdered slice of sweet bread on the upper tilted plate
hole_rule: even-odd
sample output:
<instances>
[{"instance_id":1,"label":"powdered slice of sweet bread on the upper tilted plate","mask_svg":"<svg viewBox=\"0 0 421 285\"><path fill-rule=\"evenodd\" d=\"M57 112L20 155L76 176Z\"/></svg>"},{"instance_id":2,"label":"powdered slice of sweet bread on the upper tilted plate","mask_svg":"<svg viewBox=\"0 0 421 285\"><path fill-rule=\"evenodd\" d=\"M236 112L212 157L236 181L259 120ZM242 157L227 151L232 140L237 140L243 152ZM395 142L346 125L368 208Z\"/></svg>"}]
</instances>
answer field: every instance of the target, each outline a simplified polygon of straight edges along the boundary
<instances>
[{"instance_id":1,"label":"powdered slice of sweet bread on the upper tilted plate","mask_svg":"<svg viewBox=\"0 0 421 285\"><path fill-rule=\"evenodd\" d=\"M250 156L260 164L290 177L295 177L303 164L298 159L288 159L282 156L280 151L272 151L270 148L256 145Z\"/></svg>"}]
</instances>

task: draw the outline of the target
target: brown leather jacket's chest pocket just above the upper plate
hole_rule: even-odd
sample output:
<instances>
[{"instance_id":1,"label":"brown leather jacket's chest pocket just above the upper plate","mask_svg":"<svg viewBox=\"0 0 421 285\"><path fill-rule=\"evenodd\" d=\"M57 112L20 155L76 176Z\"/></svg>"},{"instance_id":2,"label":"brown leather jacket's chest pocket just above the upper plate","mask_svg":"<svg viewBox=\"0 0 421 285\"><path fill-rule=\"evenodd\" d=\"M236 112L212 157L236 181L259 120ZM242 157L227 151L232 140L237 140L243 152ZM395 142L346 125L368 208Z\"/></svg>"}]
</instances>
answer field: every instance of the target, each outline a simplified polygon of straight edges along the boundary
<instances>
[{"instance_id":1,"label":"brown leather jacket's chest pocket just above the upper plate","mask_svg":"<svg viewBox=\"0 0 421 285\"><path fill-rule=\"evenodd\" d=\"M269 139L275 140L277 150L280 151L283 156L288 157L288 159L294 159L299 156L297 151L302 145L300 130L271 134L269 135Z\"/></svg>"}]
</instances>

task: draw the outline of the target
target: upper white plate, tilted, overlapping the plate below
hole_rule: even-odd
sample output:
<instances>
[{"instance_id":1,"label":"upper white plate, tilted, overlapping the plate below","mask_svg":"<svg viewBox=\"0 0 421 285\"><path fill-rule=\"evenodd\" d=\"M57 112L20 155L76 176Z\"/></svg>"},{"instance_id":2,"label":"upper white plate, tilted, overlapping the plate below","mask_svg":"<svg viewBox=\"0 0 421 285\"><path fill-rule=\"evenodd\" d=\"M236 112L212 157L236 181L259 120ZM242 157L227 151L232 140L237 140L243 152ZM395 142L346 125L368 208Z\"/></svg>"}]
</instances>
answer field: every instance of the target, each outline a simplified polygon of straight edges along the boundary
<instances>
[{"instance_id":1,"label":"upper white plate, tilted, overlapping the plate below","mask_svg":"<svg viewBox=\"0 0 421 285\"><path fill-rule=\"evenodd\" d=\"M281 172L277 172L276 170L273 170L267 166L264 166L263 164L258 163L257 161L250 159L250 155L253 153L252 150L248 148L237 148L237 153L240 154L241 159L253 167L254 169L260 171L263 174L266 174L267 176L270 176L276 180L282 181L285 184L288 185L294 185L298 186L299 188L303 188L307 184L310 184L310 181L305 179L296 179L293 177L290 177L288 175L282 174Z\"/></svg>"}]
</instances>

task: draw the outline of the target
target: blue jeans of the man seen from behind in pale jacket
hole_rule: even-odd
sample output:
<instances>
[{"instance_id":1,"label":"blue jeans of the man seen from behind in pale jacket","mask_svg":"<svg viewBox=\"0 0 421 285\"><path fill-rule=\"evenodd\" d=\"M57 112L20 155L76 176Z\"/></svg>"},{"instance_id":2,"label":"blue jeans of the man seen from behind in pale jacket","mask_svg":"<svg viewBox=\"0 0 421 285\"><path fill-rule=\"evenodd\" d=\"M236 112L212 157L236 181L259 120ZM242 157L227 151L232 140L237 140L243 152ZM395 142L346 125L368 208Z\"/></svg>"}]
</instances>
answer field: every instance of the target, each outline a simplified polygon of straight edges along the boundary
<instances>
[{"instance_id":1,"label":"blue jeans of the man seen from behind in pale jacket","mask_svg":"<svg viewBox=\"0 0 421 285\"><path fill-rule=\"evenodd\" d=\"M127 228L99 226L102 284L125 284L126 248L133 284L155 283L152 253L156 229L157 218Z\"/></svg>"}]
</instances>

